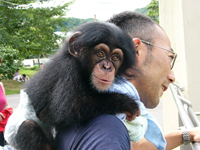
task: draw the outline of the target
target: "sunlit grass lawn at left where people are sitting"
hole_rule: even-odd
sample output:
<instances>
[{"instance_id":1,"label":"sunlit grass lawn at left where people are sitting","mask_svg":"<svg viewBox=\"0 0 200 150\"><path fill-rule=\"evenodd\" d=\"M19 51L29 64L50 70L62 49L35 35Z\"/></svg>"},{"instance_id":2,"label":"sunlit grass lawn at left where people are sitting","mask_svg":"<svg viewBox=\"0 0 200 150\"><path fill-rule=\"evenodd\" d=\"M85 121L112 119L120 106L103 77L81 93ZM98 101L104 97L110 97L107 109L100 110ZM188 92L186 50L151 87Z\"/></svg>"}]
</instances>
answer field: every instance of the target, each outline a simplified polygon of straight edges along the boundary
<instances>
[{"instance_id":1,"label":"sunlit grass lawn at left where people are sitting","mask_svg":"<svg viewBox=\"0 0 200 150\"><path fill-rule=\"evenodd\" d=\"M31 78L36 72L37 71L35 70L23 70L23 69L19 70L19 73L21 75L26 74L29 78ZM24 86L24 82L18 82L12 79L2 80L1 82L4 84L6 95L19 94L20 90Z\"/></svg>"}]
</instances>

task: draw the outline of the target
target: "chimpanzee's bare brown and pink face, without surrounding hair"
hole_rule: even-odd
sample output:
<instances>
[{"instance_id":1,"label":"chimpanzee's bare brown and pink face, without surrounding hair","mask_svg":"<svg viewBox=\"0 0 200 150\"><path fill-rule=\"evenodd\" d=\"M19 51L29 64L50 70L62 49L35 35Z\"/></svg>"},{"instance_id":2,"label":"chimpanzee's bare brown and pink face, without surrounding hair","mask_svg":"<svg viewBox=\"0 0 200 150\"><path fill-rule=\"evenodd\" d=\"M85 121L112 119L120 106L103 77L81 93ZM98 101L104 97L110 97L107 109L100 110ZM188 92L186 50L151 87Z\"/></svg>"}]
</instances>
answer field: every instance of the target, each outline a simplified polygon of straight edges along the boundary
<instances>
[{"instance_id":1,"label":"chimpanzee's bare brown and pink face, without surrounding hair","mask_svg":"<svg viewBox=\"0 0 200 150\"><path fill-rule=\"evenodd\" d=\"M111 86L122 61L123 53L121 49L111 49L103 43L94 47L92 55L94 67L91 82L98 91L106 90Z\"/></svg>"}]
</instances>

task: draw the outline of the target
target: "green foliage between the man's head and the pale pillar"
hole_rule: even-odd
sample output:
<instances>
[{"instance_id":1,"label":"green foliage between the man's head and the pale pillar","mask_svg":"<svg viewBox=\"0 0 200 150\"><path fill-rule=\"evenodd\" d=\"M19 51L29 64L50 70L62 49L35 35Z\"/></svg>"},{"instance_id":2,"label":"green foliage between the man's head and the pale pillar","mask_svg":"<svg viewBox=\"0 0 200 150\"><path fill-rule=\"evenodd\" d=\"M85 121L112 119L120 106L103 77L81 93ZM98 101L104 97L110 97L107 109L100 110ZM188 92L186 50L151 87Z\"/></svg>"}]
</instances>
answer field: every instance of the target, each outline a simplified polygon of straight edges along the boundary
<instances>
[{"instance_id":1,"label":"green foliage between the man's head and the pale pillar","mask_svg":"<svg viewBox=\"0 0 200 150\"><path fill-rule=\"evenodd\" d=\"M159 23L159 1L151 0L147 6L147 16L151 17L154 21Z\"/></svg>"}]
</instances>

